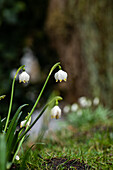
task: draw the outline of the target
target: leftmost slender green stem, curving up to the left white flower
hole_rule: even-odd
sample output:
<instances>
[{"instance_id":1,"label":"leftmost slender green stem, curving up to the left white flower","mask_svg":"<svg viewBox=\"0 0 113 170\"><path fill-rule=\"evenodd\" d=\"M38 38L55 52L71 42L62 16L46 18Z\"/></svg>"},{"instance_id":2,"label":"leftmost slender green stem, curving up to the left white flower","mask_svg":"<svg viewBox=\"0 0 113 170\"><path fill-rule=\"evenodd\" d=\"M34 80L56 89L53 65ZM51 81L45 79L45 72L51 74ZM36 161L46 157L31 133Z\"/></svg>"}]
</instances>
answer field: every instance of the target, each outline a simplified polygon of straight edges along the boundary
<instances>
[{"instance_id":1,"label":"leftmost slender green stem, curving up to the left white flower","mask_svg":"<svg viewBox=\"0 0 113 170\"><path fill-rule=\"evenodd\" d=\"M17 77L17 74L18 72L23 68L25 67L25 65L21 66L15 76L14 76L14 79L13 79L13 83L12 83L12 90L11 90L11 99L10 99L10 104L9 104L9 110L8 110L8 115L7 115L7 120L6 120L6 124L5 124L5 128L4 128L4 132L6 132L7 130L7 126L8 126L8 122L9 122L9 118L10 118L10 113L11 113L11 108L12 108L12 102L13 102L13 94L14 94L14 84L15 84L15 80L16 80L16 77Z\"/></svg>"}]
</instances>

